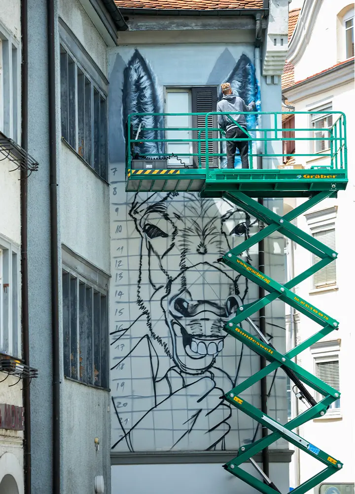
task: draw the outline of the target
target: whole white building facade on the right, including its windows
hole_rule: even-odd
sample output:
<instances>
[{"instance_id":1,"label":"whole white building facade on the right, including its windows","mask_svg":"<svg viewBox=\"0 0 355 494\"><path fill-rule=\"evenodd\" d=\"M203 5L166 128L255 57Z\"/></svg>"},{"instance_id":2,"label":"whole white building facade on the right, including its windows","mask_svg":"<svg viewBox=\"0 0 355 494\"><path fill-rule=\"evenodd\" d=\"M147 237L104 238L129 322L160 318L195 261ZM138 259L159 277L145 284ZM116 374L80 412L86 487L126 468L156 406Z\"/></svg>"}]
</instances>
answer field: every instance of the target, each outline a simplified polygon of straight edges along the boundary
<instances>
[{"instance_id":1,"label":"whole white building facade on the right, including its windows","mask_svg":"<svg viewBox=\"0 0 355 494\"><path fill-rule=\"evenodd\" d=\"M354 492L354 428L352 409L354 406L353 384L354 365L352 358L353 329L351 324L352 277L351 264L351 218L354 214L354 116L349 102L354 99L354 3L348 1L308 1L304 2L292 38L289 42L284 75L283 94L289 104L294 105L295 128L314 129L310 137L324 137L311 141L296 141L295 152L324 153L331 149L328 128L335 124L339 114L346 115L348 135L349 186L339 193L337 200L326 200L320 206L310 209L298 218L297 226L313 237L320 239L338 253L335 263L323 268L312 278L295 288L299 296L311 300L320 308L326 309L339 318L339 330L309 350L299 359L302 367L322 378L325 382L340 389L341 398L327 413L302 426L300 434L312 438L320 448L341 458L344 468L334 477L315 489L324 493L329 487L334 493ZM324 112L318 114L316 112ZM329 112L329 114L327 114ZM293 163L300 168L329 166L329 158L319 156L296 156ZM286 207L294 207L299 201ZM301 247L288 243L286 247L291 276L297 275L317 262ZM293 272L293 273L292 273ZM290 345L314 332L315 326L302 314L287 314ZM316 399L319 397L316 396ZM298 403L297 403L298 402ZM302 412L304 406L292 399L292 416ZM296 487L305 479L319 471L319 465L304 453L295 452L291 468L291 486Z\"/></svg>"}]
</instances>

